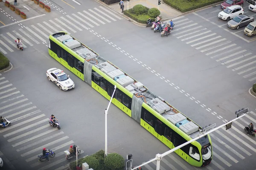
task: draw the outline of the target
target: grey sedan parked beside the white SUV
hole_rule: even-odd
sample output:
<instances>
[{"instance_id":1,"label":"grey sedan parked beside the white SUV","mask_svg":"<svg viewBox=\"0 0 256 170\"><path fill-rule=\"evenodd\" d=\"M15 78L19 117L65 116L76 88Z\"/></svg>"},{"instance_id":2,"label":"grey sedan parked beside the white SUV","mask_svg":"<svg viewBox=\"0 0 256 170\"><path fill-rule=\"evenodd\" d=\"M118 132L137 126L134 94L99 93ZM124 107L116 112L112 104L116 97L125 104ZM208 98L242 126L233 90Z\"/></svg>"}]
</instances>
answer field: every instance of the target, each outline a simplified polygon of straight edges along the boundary
<instances>
[{"instance_id":1,"label":"grey sedan parked beside the white SUV","mask_svg":"<svg viewBox=\"0 0 256 170\"><path fill-rule=\"evenodd\" d=\"M249 23L253 21L254 18L250 15L239 15L230 20L227 23L227 26L231 29L239 29L242 26L247 26Z\"/></svg>"}]
</instances>

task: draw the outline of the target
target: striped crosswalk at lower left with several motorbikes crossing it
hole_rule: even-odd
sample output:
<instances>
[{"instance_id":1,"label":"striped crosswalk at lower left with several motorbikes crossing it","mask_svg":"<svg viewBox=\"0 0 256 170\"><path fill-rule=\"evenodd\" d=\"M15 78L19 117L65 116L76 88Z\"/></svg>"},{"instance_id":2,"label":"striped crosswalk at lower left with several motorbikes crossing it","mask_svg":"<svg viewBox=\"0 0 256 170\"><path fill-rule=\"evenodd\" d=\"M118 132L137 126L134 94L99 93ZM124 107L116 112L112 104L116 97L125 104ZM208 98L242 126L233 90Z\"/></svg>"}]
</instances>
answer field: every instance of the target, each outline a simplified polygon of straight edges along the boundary
<instances>
[{"instance_id":1,"label":"striped crosswalk at lower left with several motorbikes crossing it","mask_svg":"<svg viewBox=\"0 0 256 170\"><path fill-rule=\"evenodd\" d=\"M2 140L9 142L11 147L15 148L14 154L23 157L31 170L64 170L63 165L70 163L65 159L64 151L68 150L74 141L63 131L50 126L49 118L29 102L29 99L2 74L0 74L0 116L11 122L6 128L0 127ZM50 158L52 162L49 164L38 161L38 155L42 154L44 147L56 154L54 158ZM84 153L81 148L80 150Z\"/></svg>"}]
</instances>

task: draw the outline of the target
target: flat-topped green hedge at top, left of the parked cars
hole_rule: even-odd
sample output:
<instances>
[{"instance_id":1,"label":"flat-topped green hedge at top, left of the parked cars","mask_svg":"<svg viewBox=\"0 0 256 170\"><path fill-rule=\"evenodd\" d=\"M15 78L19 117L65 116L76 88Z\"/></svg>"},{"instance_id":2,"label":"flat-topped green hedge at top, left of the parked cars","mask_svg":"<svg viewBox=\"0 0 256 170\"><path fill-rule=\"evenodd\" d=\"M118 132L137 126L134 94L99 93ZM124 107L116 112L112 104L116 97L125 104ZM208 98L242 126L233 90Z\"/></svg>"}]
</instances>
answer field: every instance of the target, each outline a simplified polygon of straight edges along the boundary
<instances>
[{"instance_id":1,"label":"flat-topped green hedge at top, left of the parked cars","mask_svg":"<svg viewBox=\"0 0 256 170\"><path fill-rule=\"evenodd\" d=\"M163 0L164 3L181 12L191 11L221 1L223 0Z\"/></svg>"}]
</instances>

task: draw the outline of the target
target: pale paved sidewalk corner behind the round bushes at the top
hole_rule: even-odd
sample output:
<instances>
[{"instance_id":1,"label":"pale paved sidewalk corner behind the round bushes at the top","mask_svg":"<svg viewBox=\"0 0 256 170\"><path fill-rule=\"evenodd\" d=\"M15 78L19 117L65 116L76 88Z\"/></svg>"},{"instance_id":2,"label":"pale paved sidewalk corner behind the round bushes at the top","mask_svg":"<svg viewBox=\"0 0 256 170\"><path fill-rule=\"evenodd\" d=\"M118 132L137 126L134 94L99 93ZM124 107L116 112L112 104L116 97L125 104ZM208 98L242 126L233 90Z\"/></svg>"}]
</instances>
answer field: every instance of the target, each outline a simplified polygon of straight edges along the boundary
<instances>
[{"instance_id":1,"label":"pale paved sidewalk corner behind the round bushes at the top","mask_svg":"<svg viewBox=\"0 0 256 170\"><path fill-rule=\"evenodd\" d=\"M157 8L158 0L130 0L129 2L129 9L134 7L137 4L141 4L148 8ZM128 1L124 2L125 8L124 10L127 10L127 4ZM122 10L120 9L119 3L115 3L112 5L109 5L108 7L112 8L117 13L124 15L122 13ZM171 8L170 6L167 6L166 4L163 4L163 0L161 0L161 4L159 6L159 11L161 12L160 16L163 18L163 20L174 18L180 14L182 14L180 11L177 11L174 8Z\"/></svg>"}]
</instances>

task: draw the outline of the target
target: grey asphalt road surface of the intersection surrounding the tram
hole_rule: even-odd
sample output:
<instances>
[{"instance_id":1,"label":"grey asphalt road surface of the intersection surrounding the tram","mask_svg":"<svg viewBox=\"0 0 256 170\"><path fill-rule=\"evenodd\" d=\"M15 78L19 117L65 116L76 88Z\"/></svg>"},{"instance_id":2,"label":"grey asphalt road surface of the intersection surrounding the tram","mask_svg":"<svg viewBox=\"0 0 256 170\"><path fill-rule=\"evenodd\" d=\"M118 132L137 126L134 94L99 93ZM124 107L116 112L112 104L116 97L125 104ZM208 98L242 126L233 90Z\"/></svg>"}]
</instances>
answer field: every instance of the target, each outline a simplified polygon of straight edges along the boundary
<instances>
[{"instance_id":1,"label":"grey asphalt road surface of the intersection surrounding the tram","mask_svg":"<svg viewBox=\"0 0 256 170\"><path fill-rule=\"evenodd\" d=\"M223 121L234 119L236 110L248 107L251 111L250 115L234 122L235 128L228 131L217 130L212 134L215 159L206 168L209 170L239 169L240 166L245 167L244 169L253 168L253 164L248 162L253 161L255 157L256 150L253 149L255 139L247 136L243 127L249 122L256 122L255 98L248 94L248 89L255 82L248 80L253 78L253 75L255 77L255 74L252 74L252 77L244 78L243 76L255 70L251 68L250 71L246 71L249 67L242 67L238 70L246 71L244 72L246 74L238 74L238 71L232 71L232 68L236 69L255 59L240 64L236 62L245 58L236 59L234 62L229 61L229 64L224 62L242 54L252 53L247 54L247 57L255 55L253 47L256 42L246 42L225 31L224 26L220 28L204 19L213 17L213 13L217 15L218 12L215 10L218 7L173 19L175 28L171 36L160 37L159 33L153 33L150 28L135 26L108 8L100 7L102 5L95 1L89 1L86 8L82 7L82 4L79 5L79 2L70 0L67 3L69 5L63 2L57 4L58 8L67 14L63 14L56 8L43 17L22 22L23 26L14 24L0 28L1 52L6 52L6 56L13 65L12 70L1 73L0 76L2 82L0 93L4 92L0 95L2 97L1 113L13 122L10 126L12 129L7 127L6 130L0 130L3 136L0 138L0 150L16 168L19 162L30 169L65 169L63 166L68 162L63 159L63 151L67 150L70 144L79 145L84 152L81 156L104 149L104 110L108 101L52 59L47 52L47 36L50 32L64 29L74 37L79 37L81 42L142 82L201 126L209 123L221 125ZM215 12L210 13L212 11ZM90 16L88 19L86 17L88 13L94 17ZM210 15L207 16L207 13ZM212 18L212 22L218 23L213 19L219 20L218 17ZM75 22L76 20L79 22ZM194 25L191 26L191 24ZM201 27L193 30L198 31L197 34L209 32L197 37L191 37L196 34L185 35L191 33L188 29L198 26ZM18 51L13 47L14 43L12 44L14 42L12 37L21 37L19 34L26 45L24 51ZM214 35L196 40L209 34ZM209 40L214 37L217 38ZM201 47L223 38L226 39L223 42L227 42L227 45L236 43L228 50L237 48L242 52L234 54L235 52L230 51L225 55L221 54L221 51L215 52L222 47L218 47L216 43L215 46L207 46L212 49ZM207 39L208 42L203 42ZM219 55L215 56L217 54ZM227 60L221 61L224 64L215 61L231 54L232 56ZM236 65L227 68L230 64ZM249 66L253 67L253 63ZM76 83L76 88L71 91L60 91L52 82L48 82L45 73L47 69L53 67L61 68L69 74ZM15 110L10 111L14 108ZM54 130L51 126L47 126L46 119L51 114L55 114L59 119L61 130ZM26 123L22 124L22 122ZM43 128L39 129L40 127ZM23 128L22 131L19 131L21 128ZM48 135L40 136L46 131L49 132ZM27 136L20 136L24 133ZM25 141L28 139L29 141ZM48 143L50 143L49 146L46 145ZM40 164L35 157L41 154L44 146L53 149L58 156L51 159L51 162ZM166 150L168 148L165 145L111 105L108 115L109 152L120 153L124 157L132 153L134 164L140 164ZM16 155L15 158L12 157L13 153ZM34 159L30 159L32 156ZM170 154L163 160L161 170L201 169L191 167L176 154ZM151 170L155 168L155 164L151 163L145 168Z\"/></svg>"}]
</instances>

